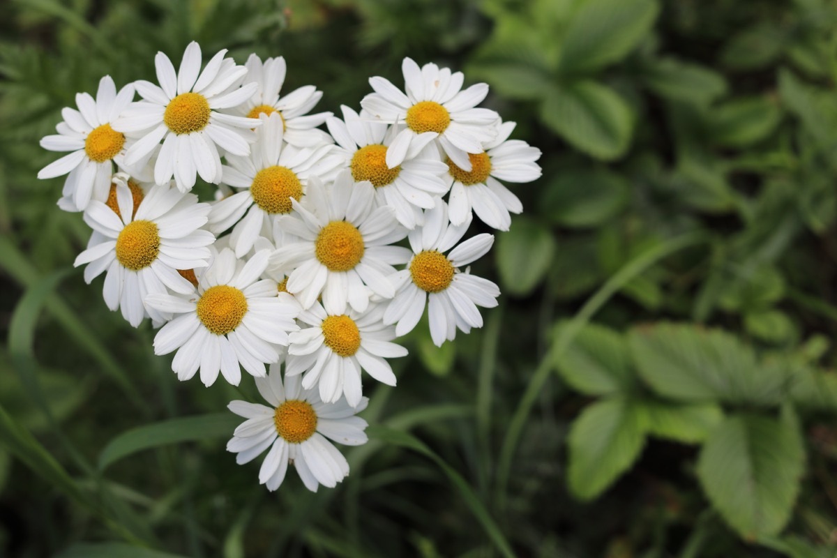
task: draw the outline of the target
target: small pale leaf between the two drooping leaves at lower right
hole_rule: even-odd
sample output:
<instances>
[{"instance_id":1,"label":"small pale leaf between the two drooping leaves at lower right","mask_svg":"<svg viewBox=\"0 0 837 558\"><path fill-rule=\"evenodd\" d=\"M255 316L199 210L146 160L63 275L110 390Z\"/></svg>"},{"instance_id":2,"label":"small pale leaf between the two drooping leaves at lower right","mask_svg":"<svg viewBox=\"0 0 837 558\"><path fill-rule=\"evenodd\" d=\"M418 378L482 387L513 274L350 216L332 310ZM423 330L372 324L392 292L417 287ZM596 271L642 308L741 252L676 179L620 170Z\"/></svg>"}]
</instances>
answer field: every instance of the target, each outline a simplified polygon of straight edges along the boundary
<instances>
[{"instance_id":1,"label":"small pale leaf between the two drooping leaves at lower right","mask_svg":"<svg viewBox=\"0 0 837 558\"><path fill-rule=\"evenodd\" d=\"M711 403L684 405L661 401L642 402L648 433L682 443L703 442L723 419L721 407Z\"/></svg>"}]
</instances>

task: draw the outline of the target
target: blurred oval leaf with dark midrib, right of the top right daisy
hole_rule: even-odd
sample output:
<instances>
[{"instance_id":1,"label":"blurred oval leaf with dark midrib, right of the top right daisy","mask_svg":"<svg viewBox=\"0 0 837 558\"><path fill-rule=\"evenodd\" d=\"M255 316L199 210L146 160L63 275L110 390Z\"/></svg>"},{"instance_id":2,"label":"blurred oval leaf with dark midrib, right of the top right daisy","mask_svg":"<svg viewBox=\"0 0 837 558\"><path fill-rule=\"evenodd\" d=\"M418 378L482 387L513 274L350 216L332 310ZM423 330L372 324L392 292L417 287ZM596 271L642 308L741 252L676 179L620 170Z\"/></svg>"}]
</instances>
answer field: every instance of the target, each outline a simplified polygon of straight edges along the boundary
<instances>
[{"instance_id":1,"label":"blurred oval leaf with dark midrib, right of the top right daisy","mask_svg":"<svg viewBox=\"0 0 837 558\"><path fill-rule=\"evenodd\" d=\"M564 140L597 159L624 155L634 132L634 111L621 95L592 80L553 87L541 120Z\"/></svg>"}]
</instances>

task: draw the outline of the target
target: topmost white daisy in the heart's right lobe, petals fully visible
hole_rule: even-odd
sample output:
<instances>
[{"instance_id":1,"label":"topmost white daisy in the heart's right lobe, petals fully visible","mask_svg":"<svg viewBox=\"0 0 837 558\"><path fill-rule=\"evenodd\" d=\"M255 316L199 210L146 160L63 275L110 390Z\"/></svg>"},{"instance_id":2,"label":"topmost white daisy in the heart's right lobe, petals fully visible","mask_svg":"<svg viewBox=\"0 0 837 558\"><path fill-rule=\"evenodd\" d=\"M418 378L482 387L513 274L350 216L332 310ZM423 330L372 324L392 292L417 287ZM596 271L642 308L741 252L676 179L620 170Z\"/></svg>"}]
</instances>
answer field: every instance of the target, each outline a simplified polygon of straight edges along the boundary
<instances>
[{"instance_id":1,"label":"topmost white daisy in the heart's right lobe, petals fully visible","mask_svg":"<svg viewBox=\"0 0 837 558\"><path fill-rule=\"evenodd\" d=\"M494 110L476 109L488 95L488 84L471 85L462 90L461 72L451 73L436 64L419 64L405 58L406 95L388 79L375 76L369 84L375 93L363 98L361 105L372 117L389 124L405 124L387 150L387 166L402 163L416 145L426 146L434 138L460 168L470 171L468 153L480 153L482 144L496 136L500 115ZM429 132L429 133L428 133Z\"/></svg>"}]
</instances>

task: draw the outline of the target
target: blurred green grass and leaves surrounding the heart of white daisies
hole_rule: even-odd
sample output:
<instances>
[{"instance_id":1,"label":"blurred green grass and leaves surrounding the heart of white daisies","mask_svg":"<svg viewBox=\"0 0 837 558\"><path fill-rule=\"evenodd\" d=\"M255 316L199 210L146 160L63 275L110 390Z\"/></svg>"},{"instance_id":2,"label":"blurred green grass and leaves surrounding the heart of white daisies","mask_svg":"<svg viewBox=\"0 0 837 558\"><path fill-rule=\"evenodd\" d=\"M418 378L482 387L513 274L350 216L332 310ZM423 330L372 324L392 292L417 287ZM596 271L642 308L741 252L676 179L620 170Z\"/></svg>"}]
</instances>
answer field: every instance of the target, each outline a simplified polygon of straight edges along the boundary
<instances>
[{"instance_id":1,"label":"blurred green grass and leaves surrounding the heart of white daisies","mask_svg":"<svg viewBox=\"0 0 837 558\"><path fill-rule=\"evenodd\" d=\"M833 557L831 0L0 3L0 555ZM351 476L275 494L69 272L38 146L78 91L198 40L357 108L401 58L464 69L543 151L475 267L504 291L372 389ZM369 387L367 387L368 389ZM194 418L199 417L199 418Z\"/></svg>"}]
</instances>

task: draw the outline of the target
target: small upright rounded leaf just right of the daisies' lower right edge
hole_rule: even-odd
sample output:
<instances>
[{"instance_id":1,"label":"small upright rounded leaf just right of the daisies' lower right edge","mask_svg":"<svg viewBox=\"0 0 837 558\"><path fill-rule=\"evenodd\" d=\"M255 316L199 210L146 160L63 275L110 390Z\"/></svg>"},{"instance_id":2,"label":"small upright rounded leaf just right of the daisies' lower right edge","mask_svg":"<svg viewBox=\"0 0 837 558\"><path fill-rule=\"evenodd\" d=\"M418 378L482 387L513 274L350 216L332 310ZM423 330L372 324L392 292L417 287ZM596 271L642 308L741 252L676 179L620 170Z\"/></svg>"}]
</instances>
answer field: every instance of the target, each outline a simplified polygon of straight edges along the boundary
<instances>
[{"instance_id":1,"label":"small upright rounded leaf just right of the daisies' lower right edge","mask_svg":"<svg viewBox=\"0 0 837 558\"><path fill-rule=\"evenodd\" d=\"M515 218L497 239L497 269L503 291L523 296L541 283L552 264L555 238L541 223Z\"/></svg>"}]
</instances>

